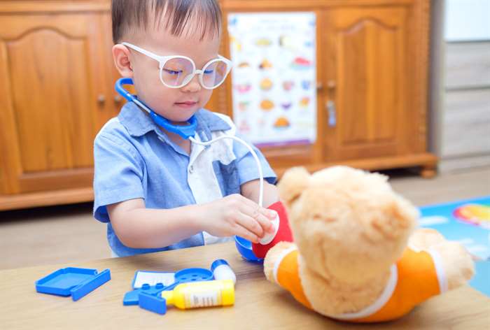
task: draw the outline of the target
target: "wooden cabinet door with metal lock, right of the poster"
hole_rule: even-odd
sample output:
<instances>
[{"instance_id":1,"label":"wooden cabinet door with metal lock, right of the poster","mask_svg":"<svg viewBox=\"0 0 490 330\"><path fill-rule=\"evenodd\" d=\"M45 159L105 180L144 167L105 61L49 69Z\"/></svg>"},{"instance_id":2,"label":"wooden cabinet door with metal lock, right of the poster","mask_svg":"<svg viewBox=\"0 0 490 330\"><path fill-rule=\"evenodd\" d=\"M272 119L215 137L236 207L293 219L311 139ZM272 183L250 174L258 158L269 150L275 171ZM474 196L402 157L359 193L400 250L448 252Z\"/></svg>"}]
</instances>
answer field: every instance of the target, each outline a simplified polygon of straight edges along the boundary
<instances>
[{"instance_id":1,"label":"wooden cabinet door with metal lock, right of the poster","mask_svg":"<svg viewBox=\"0 0 490 330\"><path fill-rule=\"evenodd\" d=\"M411 130L406 6L325 11L325 158L403 155Z\"/></svg>"}]
</instances>

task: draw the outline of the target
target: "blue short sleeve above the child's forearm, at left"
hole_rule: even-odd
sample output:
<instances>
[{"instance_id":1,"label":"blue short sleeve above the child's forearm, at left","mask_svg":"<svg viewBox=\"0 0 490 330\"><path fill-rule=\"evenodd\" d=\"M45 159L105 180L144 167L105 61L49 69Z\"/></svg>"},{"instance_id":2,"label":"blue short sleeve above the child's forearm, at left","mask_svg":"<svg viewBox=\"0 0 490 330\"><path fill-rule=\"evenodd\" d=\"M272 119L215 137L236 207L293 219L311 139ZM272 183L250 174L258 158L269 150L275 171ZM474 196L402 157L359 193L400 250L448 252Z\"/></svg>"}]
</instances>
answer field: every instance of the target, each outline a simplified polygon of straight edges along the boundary
<instances>
[{"instance_id":1,"label":"blue short sleeve above the child's forearm, at left","mask_svg":"<svg viewBox=\"0 0 490 330\"><path fill-rule=\"evenodd\" d=\"M109 222L106 206L144 199L144 162L131 143L110 134L94 141L94 217Z\"/></svg>"}]
</instances>

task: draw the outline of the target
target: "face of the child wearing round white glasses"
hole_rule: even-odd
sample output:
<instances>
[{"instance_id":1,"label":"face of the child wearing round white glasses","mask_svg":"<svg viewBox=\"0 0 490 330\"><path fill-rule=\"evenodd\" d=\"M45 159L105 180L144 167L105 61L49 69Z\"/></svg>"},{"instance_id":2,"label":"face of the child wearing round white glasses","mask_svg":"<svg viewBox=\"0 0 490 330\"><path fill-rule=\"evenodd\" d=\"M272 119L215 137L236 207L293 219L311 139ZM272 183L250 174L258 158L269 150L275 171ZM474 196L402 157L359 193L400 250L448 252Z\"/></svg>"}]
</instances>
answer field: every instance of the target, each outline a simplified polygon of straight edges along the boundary
<instances>
[{"instance_id":1,"label":"face of the child wearing round white glasses","mask_svg":"<svg viewBox=\"0 0 490 330\"><path fill-rule=\"evenodd\" d=\"M200 34L173 36L164 29L148 29L128 42L160 56L183 55L193 59L196 69L202 69L211 59L218 57L219 39ZM160 81L158 61L144 54L129 50L130 68L138 98L155 113L172 122L185 122L211 97L212 90L200 85L199 76L180 88L166 87ZM124 75L123 75L124 76Z\"/></svg>"}]
</instances>

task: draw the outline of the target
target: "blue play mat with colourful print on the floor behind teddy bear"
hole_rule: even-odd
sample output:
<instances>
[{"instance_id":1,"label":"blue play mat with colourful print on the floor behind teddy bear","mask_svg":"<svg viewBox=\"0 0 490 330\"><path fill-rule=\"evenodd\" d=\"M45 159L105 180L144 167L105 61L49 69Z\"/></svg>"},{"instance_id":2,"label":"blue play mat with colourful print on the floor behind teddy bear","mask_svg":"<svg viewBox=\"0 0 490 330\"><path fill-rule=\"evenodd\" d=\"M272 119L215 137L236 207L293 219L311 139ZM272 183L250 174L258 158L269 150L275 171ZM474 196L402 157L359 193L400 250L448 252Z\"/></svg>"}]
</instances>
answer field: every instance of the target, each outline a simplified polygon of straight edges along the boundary
<instances>
[{"instance_id":1,"label":"blue play mat with colourful print on the floor behind teddy bear","mask_svg":"<svg viewBox=\"0 0 490 330\"><path fill-rule=\"evenodd\" d=\"M490 196L423 206L420 211L420 227L436 229L479 258L470 285L490 296Z\"/></svg>"}]
</instances>

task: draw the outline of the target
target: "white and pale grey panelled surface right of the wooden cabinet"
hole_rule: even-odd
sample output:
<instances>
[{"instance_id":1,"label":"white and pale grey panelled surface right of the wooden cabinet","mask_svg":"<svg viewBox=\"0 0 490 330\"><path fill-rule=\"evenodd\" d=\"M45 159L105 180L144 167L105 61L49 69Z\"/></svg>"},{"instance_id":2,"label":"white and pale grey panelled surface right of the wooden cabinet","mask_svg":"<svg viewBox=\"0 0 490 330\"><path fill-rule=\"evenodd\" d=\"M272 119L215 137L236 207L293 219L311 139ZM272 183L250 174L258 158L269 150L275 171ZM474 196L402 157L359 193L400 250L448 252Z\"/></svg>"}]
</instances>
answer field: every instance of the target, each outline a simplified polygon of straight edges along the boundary
<instances>
[{"instance_id":1,"label":"white and pale grey panelled surface right of the wooden cabinet","mask_svg":"<svg viewBox=\"0 0 490 330\"><path fill-rule=\"evenodd\" d=\"M431 115L439 168L490 166L490 0L445 0L444 6L444 14L433 11L445 22L440 45L433 41L431 62L438 76L432 81Z\"/></svg>"}]
</instances>

